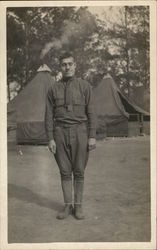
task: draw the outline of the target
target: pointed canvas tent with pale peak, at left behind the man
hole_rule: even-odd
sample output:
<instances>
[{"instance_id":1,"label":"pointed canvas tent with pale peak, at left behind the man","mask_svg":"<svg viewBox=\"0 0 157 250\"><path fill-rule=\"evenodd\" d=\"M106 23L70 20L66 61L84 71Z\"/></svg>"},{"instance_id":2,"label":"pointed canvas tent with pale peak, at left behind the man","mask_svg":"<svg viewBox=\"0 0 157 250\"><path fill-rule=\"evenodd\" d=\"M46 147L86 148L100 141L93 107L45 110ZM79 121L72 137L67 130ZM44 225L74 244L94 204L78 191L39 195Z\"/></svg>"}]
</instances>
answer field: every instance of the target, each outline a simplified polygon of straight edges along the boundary
<instances>
[{"instance_id":1,"label":"pointed canvas tent with pale peak, at left behind the man","mask_svg":"<svg viewBox=\"0 0 157 250\"><path fill-rule=\"evenodd\" d=\"M15 129L17 143L43 144L45 100L54 79L47 65L42 65L33 80L8 103L8 140Z\"/></svg>"}]
</instances>

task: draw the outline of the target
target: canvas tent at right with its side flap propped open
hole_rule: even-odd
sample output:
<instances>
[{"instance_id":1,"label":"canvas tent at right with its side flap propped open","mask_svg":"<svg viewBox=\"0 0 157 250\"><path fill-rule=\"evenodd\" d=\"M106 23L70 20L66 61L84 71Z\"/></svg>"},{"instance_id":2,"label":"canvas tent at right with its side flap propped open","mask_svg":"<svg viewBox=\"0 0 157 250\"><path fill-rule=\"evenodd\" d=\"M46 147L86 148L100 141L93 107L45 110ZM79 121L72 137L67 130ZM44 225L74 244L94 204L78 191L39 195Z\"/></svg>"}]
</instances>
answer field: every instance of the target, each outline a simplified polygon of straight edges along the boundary
<instances>
[{"instance_id":1,"label":"canvas tent at right with its side flap propped open","mask_svg":"<svg viewBox=\"0 0 157 250\"><path fill-rule=\"evenodd\" d=\"M121 93L110 75L106 75L93 89L93 95L97 115L97 134L128 136L128 120L131 115L149 116L147 111L130 102ZM136 126L141 126L140 121L137 121ZM136 132L135 135L138 133Z\"/></svg>"}]
</instances>

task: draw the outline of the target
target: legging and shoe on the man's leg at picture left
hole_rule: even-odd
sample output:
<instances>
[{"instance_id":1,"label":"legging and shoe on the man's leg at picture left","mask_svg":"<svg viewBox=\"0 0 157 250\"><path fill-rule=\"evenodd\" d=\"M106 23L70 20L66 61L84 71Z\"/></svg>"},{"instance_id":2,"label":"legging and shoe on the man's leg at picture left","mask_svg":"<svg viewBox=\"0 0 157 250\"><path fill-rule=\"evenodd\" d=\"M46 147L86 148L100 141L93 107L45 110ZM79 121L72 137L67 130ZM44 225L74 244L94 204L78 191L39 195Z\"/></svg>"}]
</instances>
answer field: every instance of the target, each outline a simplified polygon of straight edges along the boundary
<instances>
[{"instance_id":1,"label":"legging and shoe on the man's leg at picture left","mask_svg":"<svg viewBox=\"0 0 157 250\"><path fill-rule=\"evenodd\" d=\"M70 180L62 180L62 190L63 190L63 197L64 197L64 209L57 215L57 219L63 220L66 219L70 214L73 212L72 207L72 181Z\"/></svg>"}]
</instances>

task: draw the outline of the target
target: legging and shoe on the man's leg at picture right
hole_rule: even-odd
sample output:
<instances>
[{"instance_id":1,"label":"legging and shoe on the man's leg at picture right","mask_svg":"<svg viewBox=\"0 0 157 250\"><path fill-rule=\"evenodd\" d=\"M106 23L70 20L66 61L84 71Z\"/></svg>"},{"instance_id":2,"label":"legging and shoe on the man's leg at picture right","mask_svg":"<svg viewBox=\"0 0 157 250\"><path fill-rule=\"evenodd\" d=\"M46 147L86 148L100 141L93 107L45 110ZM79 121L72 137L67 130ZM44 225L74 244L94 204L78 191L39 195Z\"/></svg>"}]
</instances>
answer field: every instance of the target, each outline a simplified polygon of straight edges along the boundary
<instances>
[{"instance_id":1,"label":"legging and shoe on the man's leg at picture right","mask_svg":"<svg viewBox=\"0 0 157 250\"><path fill-rule=\"evenodd\" d=\"M77 220L85 218L82 210L83 186L83 181L74 181L74 215Z\"/></svg>"}]
</instances>

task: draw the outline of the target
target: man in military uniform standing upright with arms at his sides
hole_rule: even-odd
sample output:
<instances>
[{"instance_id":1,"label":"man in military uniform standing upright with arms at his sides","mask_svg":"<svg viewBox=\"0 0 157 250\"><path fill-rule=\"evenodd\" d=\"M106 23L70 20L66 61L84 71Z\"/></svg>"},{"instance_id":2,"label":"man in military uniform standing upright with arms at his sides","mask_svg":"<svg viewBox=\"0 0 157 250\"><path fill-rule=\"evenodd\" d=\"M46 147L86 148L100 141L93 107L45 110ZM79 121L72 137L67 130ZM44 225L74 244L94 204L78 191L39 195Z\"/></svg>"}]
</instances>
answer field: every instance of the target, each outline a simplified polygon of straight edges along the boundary
<instances>
[{"instance_id":1,"label":"man in military uniform standing upright with arms at his sides","mask_svg":"<svg viewBox=\"0 0 157 250\"><path fill-rule=\"evenodd\" d=\"M84 172L89 151L96 147L96 124L92 88L75 77L76 63L70 53L60 58L63 78L49 89L45 126L49 150L58 164L64 197L64 209L57 216L65 219L73 213L72 175L74 178L74 215L84 219L82 198Z\"/></svg>"}]
</instances>

